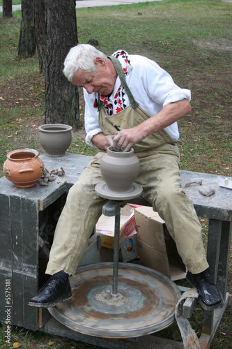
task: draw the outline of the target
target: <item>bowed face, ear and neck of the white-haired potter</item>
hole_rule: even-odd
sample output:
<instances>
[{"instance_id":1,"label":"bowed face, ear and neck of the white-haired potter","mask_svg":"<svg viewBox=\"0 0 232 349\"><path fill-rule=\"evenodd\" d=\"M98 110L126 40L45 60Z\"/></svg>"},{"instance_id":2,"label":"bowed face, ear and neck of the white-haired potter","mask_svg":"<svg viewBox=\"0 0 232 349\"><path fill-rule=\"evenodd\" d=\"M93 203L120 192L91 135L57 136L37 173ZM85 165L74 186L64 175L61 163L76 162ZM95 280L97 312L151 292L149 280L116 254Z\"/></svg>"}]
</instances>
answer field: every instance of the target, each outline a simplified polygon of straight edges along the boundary
<instances>
[{"instance_id":1,"label":"bowed face, ear and neck of the white-haired potter","mask_svg":"<svg viewBox=\"0 0 232 349\"><path fill-rule=\"evenodd\" d=\"M95 73L88 73L82 69L78 69L72 82L78 87L84 87L88 94L92 94L93 92L104 95L111 94L115 83L111 70L100 57L95 59L95 66Z\"/></svg>"}]
</instances>

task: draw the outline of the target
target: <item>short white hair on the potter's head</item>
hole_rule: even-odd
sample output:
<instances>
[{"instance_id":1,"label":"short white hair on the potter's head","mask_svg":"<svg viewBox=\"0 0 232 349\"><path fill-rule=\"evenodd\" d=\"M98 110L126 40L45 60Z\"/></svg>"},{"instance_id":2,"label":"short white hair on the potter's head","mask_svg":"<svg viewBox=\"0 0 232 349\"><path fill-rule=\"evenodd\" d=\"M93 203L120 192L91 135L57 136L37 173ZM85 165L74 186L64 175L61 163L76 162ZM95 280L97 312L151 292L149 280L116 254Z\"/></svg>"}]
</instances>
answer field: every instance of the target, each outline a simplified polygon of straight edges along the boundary
<instances>
[{"instance_id":1,"label":"short white hair on the potter's head","mask_svg":"<svg viewBox=\"0 0 232 349\"><path fill-rule=\"evenodd\" d=\"M107 60L107 56L92 45L82 44L72 47L65 58L63 74L72 82L78 69L95 73L95 57Z\"/></svg>"}]
</instances>

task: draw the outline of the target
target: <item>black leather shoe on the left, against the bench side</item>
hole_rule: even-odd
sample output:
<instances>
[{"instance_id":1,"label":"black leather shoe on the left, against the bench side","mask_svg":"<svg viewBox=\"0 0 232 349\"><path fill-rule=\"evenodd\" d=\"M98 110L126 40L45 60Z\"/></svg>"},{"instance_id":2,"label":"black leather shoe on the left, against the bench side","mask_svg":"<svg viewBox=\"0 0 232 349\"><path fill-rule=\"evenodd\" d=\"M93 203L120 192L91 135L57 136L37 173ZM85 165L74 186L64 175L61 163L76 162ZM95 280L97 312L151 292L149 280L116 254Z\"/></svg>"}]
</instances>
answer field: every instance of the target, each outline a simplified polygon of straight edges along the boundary
<instances>
[{"instance_id":1,"label":"black leather shoe on the left, against the bench side","mask_svg":"<svg viewBox=\"0 0 232 349\"><path fill-rule=\"evenodd\" d=\"M38 295L29 301L29 306L38 308L49 308L55 306L59 301L66 301L72 297L68 274L58 272L50 277L42 286Z\"/></svg>"}]
</instances>

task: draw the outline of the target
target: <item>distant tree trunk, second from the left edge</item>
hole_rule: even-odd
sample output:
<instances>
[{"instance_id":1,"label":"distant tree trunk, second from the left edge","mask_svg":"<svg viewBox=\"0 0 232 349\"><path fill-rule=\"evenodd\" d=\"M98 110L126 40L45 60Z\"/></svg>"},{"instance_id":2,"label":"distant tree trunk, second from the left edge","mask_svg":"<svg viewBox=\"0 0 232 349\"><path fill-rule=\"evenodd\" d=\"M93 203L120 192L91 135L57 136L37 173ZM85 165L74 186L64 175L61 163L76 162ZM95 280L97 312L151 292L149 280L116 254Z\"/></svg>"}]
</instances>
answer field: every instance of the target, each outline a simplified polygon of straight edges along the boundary
<instances>
[{"instance_id":1,"label":"distant tree trunk, second from the left edge","mask_svg":"<svg viewBox=\"0 0 232 349\"><path fill-rule=\"evenodd\" d=\"M22 0L22 20L18 57L33 57L36 53L36 31L33 15L33 0Z\"/></svg>"}]
</instances>

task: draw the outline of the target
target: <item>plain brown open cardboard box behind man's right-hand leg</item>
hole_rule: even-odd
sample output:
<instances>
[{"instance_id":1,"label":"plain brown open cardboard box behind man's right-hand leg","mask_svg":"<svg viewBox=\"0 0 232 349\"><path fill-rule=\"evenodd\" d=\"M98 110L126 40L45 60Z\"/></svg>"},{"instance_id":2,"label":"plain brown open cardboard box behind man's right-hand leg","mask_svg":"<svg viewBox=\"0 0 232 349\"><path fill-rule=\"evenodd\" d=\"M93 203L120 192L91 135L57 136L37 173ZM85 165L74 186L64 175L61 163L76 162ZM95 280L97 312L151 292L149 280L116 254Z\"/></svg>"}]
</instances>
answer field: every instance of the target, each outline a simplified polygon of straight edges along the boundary
<instances>
[{"instance_id":1,"label":"plain brown open cardboard box behind man's right-hand leg","mask_svg":"<svg viewBox=\"0 0 232 349\"><path fill-rule=\"evenodd\" d=\"M162 218L152 207L146 206L136 208L134 218L141 263L173 281L184 279L185 265Z\"/></svg>"}]
</instances>

